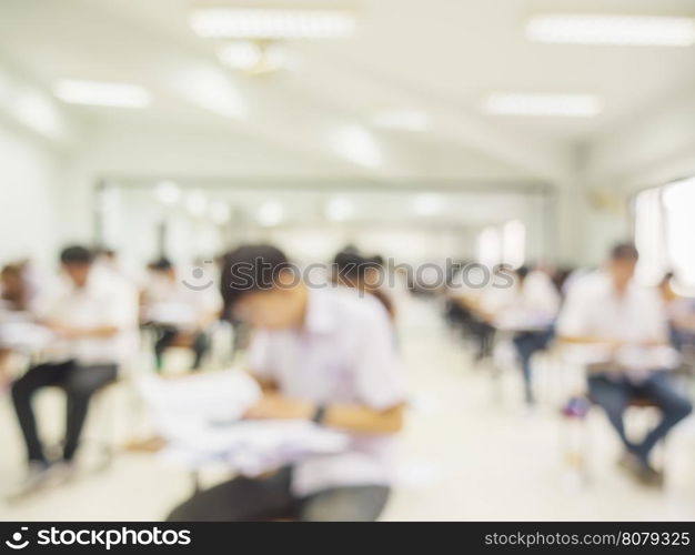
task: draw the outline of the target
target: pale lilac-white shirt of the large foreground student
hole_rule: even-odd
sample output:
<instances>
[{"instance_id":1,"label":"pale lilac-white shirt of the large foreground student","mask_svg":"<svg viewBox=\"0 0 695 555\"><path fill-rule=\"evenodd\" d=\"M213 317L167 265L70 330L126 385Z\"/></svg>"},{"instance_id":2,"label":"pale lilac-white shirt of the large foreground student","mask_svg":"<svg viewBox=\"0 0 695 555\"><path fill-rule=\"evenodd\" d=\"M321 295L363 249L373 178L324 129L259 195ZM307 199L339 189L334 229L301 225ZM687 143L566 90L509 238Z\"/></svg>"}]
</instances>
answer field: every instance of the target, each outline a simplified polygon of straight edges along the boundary
<instances>
[{"instance_id":1,"label":"pale lilac-white shirt of the large foreground student","mask_svg":"<svg viewBox=\"0 0 695 555\"><path fill-rule=\"evenodd\" d=\"M383 411L404 400L392 325L379 301L352 290L310 290L302 330L255 333L255 375L290 397L356 403ZM389 484L395 436L351 434L350 447L294 467L292 490L304 496L335 486Z\"/></svg>"}]
</instances>

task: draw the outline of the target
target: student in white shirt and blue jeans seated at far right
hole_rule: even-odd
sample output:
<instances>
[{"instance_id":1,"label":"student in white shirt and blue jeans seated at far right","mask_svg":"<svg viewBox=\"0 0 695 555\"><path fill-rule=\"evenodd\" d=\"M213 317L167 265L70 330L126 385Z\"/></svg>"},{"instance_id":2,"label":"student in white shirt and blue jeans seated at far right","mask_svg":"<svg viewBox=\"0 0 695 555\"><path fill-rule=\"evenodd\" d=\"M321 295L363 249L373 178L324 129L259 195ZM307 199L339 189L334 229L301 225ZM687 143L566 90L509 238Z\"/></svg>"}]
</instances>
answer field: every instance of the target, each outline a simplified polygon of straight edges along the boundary
<instances>
[{"instance_id":1,"label":"student in white shirt and blue jeans seated at far right","mask_svg":"<svg viewBox=\"0 0 695 555\"><path fill-rule=\"evenodd\" d=\"M593 345L588 391L606 412L626 453L621 463L641 482L662 483L649 463L652 448L692 411L677 392L669 370L677 357L656 291L633 281L638 253L632 243L616 245L605 270L581 278L567 292L557 321L563 341ZM639 442L625 433L623 415L631 400L654 402L661 422Z\"/></svg>"}]
</instances>

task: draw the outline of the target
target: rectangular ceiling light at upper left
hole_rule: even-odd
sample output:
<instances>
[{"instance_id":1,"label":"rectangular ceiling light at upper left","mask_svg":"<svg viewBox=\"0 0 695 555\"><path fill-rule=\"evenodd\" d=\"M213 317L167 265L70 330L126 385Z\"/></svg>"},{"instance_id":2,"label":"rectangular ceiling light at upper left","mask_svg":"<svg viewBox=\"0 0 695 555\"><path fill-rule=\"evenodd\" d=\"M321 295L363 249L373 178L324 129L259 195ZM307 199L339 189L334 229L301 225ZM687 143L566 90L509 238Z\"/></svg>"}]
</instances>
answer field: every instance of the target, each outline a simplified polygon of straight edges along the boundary
<instances>
[{"instance_id":1,"label":"rectangular ceiling light at upper left","mask_svg":"<svg viewBox=\"0 0 695 555\"><path fill-rule=\"evenodd\" d=\"M56 85L53 92L70 104L144 108L150 103L150 93L130 83L64 80Z\"/></svg>"}]
</instances>

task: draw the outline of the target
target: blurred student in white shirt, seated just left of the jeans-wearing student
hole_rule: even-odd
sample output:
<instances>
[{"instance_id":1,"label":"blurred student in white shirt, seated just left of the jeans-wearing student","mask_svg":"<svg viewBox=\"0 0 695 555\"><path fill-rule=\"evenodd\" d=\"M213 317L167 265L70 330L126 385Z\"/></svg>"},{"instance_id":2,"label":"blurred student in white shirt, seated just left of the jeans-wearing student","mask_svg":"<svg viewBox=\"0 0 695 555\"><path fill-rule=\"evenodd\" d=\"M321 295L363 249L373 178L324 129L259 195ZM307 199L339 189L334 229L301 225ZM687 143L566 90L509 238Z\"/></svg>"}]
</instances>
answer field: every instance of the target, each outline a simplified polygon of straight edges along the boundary
<instances>
[{"instance_id":1,"label":"blurred student in white shirt, seated just left of the jeans-wearing student","mask_svg":"<svg viewBox=\"0 0 695 555\"><path fill-rule=\"evenodd\" d=\"M528 405L534 403L531 360L553 340L553 323L560 310L560 293L545 272L527 266L514 270L514 283L507 289L488 289L483 301L491 321L513 330L514 347L524 376Z\"/></svg>"}]
</instances>

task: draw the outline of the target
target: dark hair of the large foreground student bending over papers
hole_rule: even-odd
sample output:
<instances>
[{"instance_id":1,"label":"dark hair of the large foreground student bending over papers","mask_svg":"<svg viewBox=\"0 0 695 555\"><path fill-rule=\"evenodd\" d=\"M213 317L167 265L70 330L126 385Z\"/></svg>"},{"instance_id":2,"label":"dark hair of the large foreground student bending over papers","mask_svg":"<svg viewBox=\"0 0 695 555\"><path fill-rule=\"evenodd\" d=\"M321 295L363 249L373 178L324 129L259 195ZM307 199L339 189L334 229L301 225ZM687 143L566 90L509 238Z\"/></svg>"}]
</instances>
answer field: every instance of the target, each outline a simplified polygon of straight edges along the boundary
<instances>
[{"instance_id":1,"label":"dark hair of the large foreground student bending over papers","mask_svg":"<svg viewBox=\"0 0 695 555\"><path fill-rule=\"evenodd\" d=\"M222 260L220 290L225 315L246 293L272 289L280 272L290 268L285 254L271 244L241 245Z\"/></svg>"}]
</instances>

